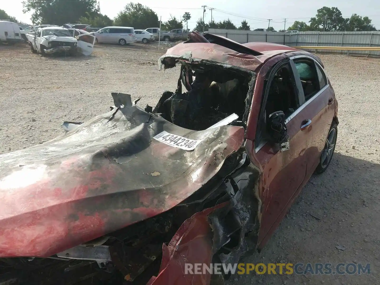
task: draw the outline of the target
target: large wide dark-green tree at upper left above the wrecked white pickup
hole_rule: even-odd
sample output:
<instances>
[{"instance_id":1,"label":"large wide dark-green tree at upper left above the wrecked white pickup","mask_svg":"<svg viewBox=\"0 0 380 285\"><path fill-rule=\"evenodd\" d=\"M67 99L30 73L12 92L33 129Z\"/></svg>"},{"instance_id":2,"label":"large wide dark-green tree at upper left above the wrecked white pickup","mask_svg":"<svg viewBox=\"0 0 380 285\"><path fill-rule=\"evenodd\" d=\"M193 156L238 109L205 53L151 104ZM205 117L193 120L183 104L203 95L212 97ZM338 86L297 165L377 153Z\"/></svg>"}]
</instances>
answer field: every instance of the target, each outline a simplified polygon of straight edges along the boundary
<instances>
[{"instance_id":1,"label":"large wide dark-green tree at upper left above the wrecked white pickup","mask_svg":"<svg viewBox=\"0 0 380 285\"><path fill-rule=\"evenodd\" d=\"M86 13L96 11L97 0L25 0L23 12L32 13L34 24L75 23Z\"/></svg>"}]
</instances>

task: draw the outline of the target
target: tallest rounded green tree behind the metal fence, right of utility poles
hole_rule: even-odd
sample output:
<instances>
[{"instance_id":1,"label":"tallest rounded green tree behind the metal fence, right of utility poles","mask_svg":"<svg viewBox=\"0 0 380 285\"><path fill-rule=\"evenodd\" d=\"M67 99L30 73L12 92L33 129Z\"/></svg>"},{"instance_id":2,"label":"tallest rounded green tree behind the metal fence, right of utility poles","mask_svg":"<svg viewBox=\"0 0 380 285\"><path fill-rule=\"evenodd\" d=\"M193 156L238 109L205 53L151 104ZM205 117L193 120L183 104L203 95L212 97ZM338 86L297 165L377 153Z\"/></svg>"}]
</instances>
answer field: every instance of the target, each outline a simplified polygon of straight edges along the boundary
<instances>
[{"instance_id":1,"label":"tallest rounded green tree behind the metal fence, right of utility poles","mask_svg":"<svg viewBox=\"0 0 380 285\"><path fill-rule=\"evenodd\" d=\"M338 8L324 6L317 10L317 14L310 19L309 23L313 31L345 31L348 19L342 17L342 12Z\"/></svg>"}]
</instances>

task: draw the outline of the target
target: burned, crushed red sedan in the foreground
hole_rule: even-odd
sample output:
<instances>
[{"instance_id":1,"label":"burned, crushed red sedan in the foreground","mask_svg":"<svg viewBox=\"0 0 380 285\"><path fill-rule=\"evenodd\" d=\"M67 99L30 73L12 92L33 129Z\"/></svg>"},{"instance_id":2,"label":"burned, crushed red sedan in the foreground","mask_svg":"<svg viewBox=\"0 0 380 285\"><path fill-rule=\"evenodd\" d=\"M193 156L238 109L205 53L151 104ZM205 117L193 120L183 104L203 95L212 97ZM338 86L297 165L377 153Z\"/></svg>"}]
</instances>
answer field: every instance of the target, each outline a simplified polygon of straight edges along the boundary
<instances>
[{"instance_id":1,"label":"burned, crushed red sedan in the foreground","mask_svg":"<svg viewBox=\"0 0 380 285\"><path fill-rule=\"evenodd\" d=\"M222 284L185 263L261 249L328 167L337 101L320 59L193 32L155 108L111 111L0 155L0 284Z\"/></svg>"}]
</instances>

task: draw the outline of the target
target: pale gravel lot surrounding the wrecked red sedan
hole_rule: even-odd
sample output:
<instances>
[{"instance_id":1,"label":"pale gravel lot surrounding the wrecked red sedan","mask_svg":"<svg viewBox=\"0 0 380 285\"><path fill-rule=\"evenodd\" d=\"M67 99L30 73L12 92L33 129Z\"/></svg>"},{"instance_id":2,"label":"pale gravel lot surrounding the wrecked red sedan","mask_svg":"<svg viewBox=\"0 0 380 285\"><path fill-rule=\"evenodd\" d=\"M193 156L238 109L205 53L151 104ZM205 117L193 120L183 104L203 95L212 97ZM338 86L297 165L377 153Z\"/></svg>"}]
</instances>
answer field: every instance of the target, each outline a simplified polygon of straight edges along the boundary
<instances>
[{"instance_id":1,"label":"pale gravel lot surrounding the wrecked red sedan","mask_svg":"<svg viewBox=\"0 0 380 285\"><path fill-rule=\"evenodd\" d=\"M97 46L90 57L45 58L0 46L0 153L61 134L112 105L111 92L154 106L175 90L178 68L158 71L163 51ZM380 258L380 60L320 55L339 100L333 161L312 177L268 245L247 263L370 263L370 275L243 275L237 284L378 284ZM315 218L317 217L317 218ZM336 247L339 247L337 249Z\"/></svg>"}]
</instances>

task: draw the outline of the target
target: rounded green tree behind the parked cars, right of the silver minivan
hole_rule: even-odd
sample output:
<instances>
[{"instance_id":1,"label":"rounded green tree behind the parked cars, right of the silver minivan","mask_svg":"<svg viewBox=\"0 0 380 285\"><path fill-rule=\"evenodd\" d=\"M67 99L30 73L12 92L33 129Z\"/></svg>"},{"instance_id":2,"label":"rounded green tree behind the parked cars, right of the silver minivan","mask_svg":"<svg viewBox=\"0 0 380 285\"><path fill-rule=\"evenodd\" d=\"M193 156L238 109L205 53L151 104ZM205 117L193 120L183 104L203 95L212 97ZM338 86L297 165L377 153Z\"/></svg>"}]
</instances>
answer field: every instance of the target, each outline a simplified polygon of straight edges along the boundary
<instances>
[{"instance_id":1,"label":"rounded green tree behind the parked cars, right of the silver minivan","mask_svg":"<svg viewBox=\"0 0 380 285\"><path fill-rule=\"evenodd\" d=\"M152 28L160 25L158 16L152 9L133 2L127 4L117 14L114 22L117 26L134 27L135 29Z\"/></svg>"}]
</instances>

